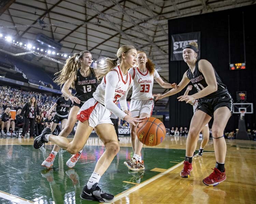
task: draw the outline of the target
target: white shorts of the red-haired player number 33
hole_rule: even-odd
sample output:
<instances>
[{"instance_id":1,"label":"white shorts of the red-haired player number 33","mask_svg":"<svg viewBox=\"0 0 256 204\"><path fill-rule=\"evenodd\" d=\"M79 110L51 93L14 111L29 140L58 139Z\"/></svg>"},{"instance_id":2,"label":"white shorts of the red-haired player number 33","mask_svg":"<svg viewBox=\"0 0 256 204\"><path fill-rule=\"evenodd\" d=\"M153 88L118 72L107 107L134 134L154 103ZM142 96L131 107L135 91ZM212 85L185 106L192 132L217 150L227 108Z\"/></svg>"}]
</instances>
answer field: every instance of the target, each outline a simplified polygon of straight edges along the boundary
<instances>
[{"instance_id":1,"label":"white shorts of the red-haired player number 33","mask_svg":"<svg viewBox=\"0 0 256 204\"><path fill-rule=\"evenodd\" d=\"M154 108L153 100L137 100L132 99L130 103L131 117L138 117L142 113L152 115Z\"/></svg>"}]
</instances>

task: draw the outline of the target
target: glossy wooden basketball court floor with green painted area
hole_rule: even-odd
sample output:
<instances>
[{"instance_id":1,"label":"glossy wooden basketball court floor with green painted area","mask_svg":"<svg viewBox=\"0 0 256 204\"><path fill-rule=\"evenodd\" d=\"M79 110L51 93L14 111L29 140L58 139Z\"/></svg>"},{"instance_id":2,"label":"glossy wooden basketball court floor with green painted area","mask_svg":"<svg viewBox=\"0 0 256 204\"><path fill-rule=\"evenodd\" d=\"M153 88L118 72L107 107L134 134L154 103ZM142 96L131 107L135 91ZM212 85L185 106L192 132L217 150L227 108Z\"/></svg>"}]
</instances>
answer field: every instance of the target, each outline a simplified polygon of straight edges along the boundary
<instances>
[{"instance_id":1,"label":"glossy wooden basketball court floor with green painted area","mask_svg":"<svg viewBox=\"0 0 256 204\"><path fill-rule=\"evenodd\" d=\"M72 139L72 138L70 138ZM226 181L208 187L202 179L214 168L210 139L202 157L193 158L188 179L179 173L185 156L185 137L167 136L156 148L144 147L145 170L129 171L123 164L132 157L130 137L120 138L120 152L102 176L102 190L115 195L116 204L256 203L256 141L226 140ZM0 139L0 203L97 203L79 198L104 151L97 137L90 137L79 162L66 166L67 152L56 156L52 169L41 166L53 144L35 150L33 139ZM200 141L198 142L199 147ZM198 148L197 148L198 149Z\"/></svg>"}]
</instances>

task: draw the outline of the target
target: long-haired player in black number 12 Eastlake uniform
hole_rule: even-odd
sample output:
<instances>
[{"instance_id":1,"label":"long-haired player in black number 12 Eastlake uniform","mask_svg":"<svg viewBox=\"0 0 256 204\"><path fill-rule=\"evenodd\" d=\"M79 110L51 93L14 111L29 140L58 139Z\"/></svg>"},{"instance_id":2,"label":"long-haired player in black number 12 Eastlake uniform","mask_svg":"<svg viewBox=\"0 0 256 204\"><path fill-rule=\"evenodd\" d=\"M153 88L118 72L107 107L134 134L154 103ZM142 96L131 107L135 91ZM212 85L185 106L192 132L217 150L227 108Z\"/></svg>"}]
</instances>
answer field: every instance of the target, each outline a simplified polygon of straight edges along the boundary
<instances>
[{"instance_id":1,"label":"long-haired player in black number 12 Eastlake uniform","mask_svg":"<svg viewBox=\"0 0 256 204\"><path fill-rule=\"evenodd\" d=\"M92 60L93 57L89 51L74 54L66 60L66 64L63 66L63 69L56 73L57 77L55 82L60 86L63 85L61 89L62 94L68 97L73 103L71 105L67 124L60 132L59 136L68 137L77 121L77 112L85 101L93 97L93 93L97 88L97 79L93 69L90 67ZM75 88L76 94L74 96L72 96L69 91L70 87ZM55 156L59 149L60 148L57 145L54 145L53 151L49 154L48 158L44 160L42 166L46 168L53 166ZM80 158L81 153L82 150L77 154L73 154L67 161L66 164L69 168L75 166L75 163Z\"/></svg>"}]
</instances>

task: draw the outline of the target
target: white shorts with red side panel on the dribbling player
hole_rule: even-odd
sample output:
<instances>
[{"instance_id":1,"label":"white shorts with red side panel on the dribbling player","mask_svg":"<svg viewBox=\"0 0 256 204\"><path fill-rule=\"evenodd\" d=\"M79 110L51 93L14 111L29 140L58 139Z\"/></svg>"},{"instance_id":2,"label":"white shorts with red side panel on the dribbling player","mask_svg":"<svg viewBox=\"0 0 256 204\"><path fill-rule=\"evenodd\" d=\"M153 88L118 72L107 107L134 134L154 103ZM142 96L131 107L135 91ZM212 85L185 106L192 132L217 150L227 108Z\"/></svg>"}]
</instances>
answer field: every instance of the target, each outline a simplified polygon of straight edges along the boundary
<instances>
[{"instance_id":1,"label":"white shorts with red side panel on the dribbling player","mask_svg":"<svg viewBox=\"0 0 256 204\"><path fill-rule=\"evenodd\" d=\"M86 101L77 113L76 118L84 122L88 120L89 126L95 128L99 124L112 124L110 120L111 112L94 98Z\"/></svg>"}]
</instances>

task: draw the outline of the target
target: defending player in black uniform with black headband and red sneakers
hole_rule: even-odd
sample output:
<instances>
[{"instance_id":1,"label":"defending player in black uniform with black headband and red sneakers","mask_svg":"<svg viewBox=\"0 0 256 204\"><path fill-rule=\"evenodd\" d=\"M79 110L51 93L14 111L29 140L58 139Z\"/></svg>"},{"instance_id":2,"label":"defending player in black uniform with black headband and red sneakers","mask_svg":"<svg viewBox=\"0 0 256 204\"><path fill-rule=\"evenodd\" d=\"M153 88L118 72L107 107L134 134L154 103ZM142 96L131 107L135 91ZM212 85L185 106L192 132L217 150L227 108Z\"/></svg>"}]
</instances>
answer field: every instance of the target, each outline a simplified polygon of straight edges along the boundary
<instances>
[{"instance_id":1,"label":"defending player in black uniform with black headband and red sneakers","mask_svg":"<svg viewBox=\"0 0 256 204\"><path fill-rule=\"evenodd\" d=\"M156 96L156 100L158 100L174 95L180 92L190 81L197 89L198 92L194 95L178 97L179 101L186 101L186 103L198 99L197 111L191 120L186 141L184 168L180 175L184 178L190 176L190 171L193 169L193 153L197 146L199 133L213 117L212 136L216 167L213 173L203 179L203 183L208 186L216 186L226 180L224 163L227 147L223 132L232 113L233 100L211 63L207 60L197 60L197 48L197 43L194 42L184 47L183 59L189 69L184 73L177 90L171 89L166 94L153 96Z\"/></svg>"}]
</instances>

